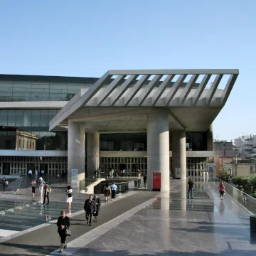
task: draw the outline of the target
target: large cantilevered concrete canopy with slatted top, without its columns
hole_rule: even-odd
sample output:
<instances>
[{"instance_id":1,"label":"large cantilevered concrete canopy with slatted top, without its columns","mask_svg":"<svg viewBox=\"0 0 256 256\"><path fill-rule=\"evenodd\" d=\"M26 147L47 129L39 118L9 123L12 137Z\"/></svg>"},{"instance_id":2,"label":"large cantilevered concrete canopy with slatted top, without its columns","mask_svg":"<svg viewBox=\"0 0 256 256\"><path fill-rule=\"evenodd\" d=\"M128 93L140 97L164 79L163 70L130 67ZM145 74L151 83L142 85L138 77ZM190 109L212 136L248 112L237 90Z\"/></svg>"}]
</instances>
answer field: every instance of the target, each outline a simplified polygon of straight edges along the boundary
<instances>
[{"instance_id":1,"label":"large cantilevered concrete canopy with slatted top, without its columns","mask_svg":"<svg viewBox=\"0 0 256 256\"><path fill-rule=\"evenodd\" d=\"M239 70L109 70L92 87L81 89L50 121L50 129L70 119L84 122L89 131L142 131L146 115L161 107L169 112L170 130L203 131L225 105L238 74Z\"/></svg>"}]
</instances>

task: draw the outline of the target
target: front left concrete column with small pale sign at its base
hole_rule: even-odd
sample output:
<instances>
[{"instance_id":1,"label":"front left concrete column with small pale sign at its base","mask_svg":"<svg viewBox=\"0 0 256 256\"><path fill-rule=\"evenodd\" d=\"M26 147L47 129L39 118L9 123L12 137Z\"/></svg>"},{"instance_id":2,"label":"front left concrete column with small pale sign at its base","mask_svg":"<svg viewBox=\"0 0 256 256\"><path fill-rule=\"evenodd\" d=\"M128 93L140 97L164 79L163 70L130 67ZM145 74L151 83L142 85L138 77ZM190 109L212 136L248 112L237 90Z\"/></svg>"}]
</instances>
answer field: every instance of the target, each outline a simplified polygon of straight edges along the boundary
<instances>
[{"instance_id":1,"label":"front left concrete column with small pale sign at its base","mask_svg":"<svg viewBox=\"0 0 256 256\"><path fill-rule=\"evenodd\" d=\"M72 169L78 169L78 180L72 182ZM80 181L85 179L85 127L68 121L68 184L79 192Z\"/></svg>"}]
</instances>

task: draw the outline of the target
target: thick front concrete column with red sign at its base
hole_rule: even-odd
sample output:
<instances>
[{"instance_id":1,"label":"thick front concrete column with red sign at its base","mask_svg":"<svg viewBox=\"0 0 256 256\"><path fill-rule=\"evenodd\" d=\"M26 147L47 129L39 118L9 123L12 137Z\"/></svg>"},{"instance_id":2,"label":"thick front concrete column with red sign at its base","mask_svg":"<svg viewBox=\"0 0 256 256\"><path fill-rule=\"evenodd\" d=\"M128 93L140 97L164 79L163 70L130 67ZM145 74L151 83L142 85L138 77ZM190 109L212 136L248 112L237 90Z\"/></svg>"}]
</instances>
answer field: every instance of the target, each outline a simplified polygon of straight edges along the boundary
<instances>
[{"instance_id":1,"label":"thick front concrete column with red sign at its base","mask_svg":"<svg viewBox=\"0 0 256 256\"><path fill-rule=\"evenodd\" d=\"M147 120L147 187L153 189L153 172L161 172L161 191L170 190L169 119L166 110L148 114Z\"/></svg>"}]
</instances>

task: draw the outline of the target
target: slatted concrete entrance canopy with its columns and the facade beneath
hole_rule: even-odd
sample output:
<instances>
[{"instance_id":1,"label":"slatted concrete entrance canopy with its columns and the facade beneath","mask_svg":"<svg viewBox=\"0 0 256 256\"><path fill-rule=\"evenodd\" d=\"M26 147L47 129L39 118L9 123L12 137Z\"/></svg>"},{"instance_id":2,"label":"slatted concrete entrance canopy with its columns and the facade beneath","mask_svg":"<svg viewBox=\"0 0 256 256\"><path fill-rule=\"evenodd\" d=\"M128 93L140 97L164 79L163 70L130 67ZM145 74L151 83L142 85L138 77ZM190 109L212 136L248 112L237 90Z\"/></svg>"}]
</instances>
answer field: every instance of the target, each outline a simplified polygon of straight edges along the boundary
<instances>
[{"instance_id":1,"label":"slatted concrete entrance canopy with its columns and the facade beneath","mask_svg":"<svg viewBox=\"0 0 256 256\"><path fill-rule=\"evenodd\" d=\"M229 75L228 82L218 89L223 75ZM87 172L121 163L129 169L143 162L149 190L154 171L161 173L162 191L169 190L170 170L175 178L201 175L206 158L213 157L211 124L237 77L238 70L107 71L50 121L51 132L68 130L69 182L78 186L85 179L85 159ZM128 133L146 134L146 148L139 146L144 151L100 150L100 134Z\"/></svg>"}]
</instances>

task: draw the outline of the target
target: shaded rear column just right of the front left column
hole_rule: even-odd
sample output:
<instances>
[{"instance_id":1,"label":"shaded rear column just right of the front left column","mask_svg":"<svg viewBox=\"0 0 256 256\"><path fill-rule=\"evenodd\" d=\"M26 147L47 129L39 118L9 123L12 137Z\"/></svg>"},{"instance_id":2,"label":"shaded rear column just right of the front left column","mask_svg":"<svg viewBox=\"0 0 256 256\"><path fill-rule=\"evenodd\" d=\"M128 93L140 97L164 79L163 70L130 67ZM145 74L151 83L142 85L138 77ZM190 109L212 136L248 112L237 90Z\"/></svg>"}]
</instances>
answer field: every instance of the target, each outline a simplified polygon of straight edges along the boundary
<instances>
[{"instance_id":1,"label":"shaded rear column just right of the front left column","mask_svg":"<svg viewBox=\"0 0 256 256\"><path fill-rule=\"evenodd\" d=\"M87 176L92 176L100 168L100 134L87 133Z\"/></svg>"}]
</instances>

